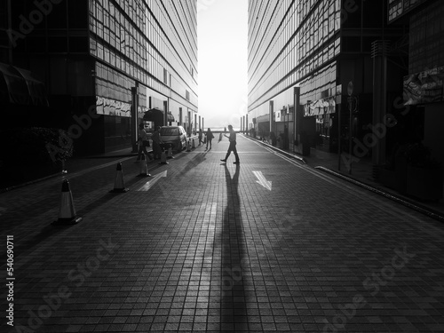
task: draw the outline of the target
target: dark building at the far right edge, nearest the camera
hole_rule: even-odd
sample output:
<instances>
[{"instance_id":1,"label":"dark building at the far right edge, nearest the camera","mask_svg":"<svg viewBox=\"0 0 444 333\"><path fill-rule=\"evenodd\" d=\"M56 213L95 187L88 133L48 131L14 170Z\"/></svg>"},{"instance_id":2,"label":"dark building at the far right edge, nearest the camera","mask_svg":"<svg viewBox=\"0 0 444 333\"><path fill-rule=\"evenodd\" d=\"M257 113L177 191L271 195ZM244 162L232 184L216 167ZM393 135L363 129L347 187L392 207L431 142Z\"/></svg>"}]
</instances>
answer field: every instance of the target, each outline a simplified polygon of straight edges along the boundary
<instances>
[{"instance_id":1,"label":"dark building at the far right edge, nearest the camera","mask_svg":"<svg viewBox=\"0 0 444 333\"><path fill-rule=\"evenodd\" d=\"M444 2L388 0L391 25L406 24L408 75L403 79L406 113L416 113L424 146L444 165Z\"/></svg>"}]
</instances>

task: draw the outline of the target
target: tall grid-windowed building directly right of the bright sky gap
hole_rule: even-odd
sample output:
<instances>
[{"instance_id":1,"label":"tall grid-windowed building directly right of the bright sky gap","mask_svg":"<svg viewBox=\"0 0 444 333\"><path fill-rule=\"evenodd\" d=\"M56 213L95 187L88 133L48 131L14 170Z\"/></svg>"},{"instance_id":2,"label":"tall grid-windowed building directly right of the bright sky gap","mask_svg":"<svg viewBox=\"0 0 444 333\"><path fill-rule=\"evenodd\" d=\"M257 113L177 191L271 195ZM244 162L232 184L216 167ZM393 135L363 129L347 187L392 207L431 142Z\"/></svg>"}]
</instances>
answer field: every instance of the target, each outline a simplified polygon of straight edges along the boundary
<instances>
[{"instance_id":1,"label":"tall grid-windowed building directly right of the bright sky gap","mask_svg":"<svg viewBox=\"0 0 444 333\"><path fill-rule=\"evenodd\" d=\"M378 62L405 28L389 26L386 13L385 0L250 0L249 131L300 153L353 151L353 139L371 133L376 103L390 106L407 74L379 65L405 58ZM377 100L375 83L386 94Z\"/></svg>"}]
</instances>

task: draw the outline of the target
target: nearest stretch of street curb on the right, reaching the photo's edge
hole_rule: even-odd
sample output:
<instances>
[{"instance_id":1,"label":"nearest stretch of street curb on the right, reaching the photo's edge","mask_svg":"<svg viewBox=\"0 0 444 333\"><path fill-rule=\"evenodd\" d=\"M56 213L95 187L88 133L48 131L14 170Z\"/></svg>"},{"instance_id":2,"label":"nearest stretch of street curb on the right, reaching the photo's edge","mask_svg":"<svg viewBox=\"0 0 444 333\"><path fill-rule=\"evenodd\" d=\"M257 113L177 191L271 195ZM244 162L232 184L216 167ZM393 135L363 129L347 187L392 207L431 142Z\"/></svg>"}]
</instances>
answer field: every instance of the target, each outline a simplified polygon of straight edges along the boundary
<instances>
[{"instance_id":1,"label":"nearest stretch of street curb on the right, reaching the photo's edge","mask_svg":"<svg viewBox=\"0 0 444 333\"><path fill-rule=\"evenodd\" d=\"M436 210L431 210L431 209L426 208L424 206L418 205L416 202L411 202L411 201L408 201L408 199L400 198L399 196L387 193L387 192L385 192L385 191L383 191L383 190L381 190L381 189L379 189L377 187L369 186L368 184L362 183L361 181L356 180L354 178L347 177L347 176L345 176L342 173L339 173L337 171L330 170L330 169L327 169L327 168L322 167L322 166L316 166L316 167L314 167L314 169L322 170L324 172L327 172L330 175L336 176L337 178L341 178L341 179L344 179L344 180L346 180L346 181L348 181L348 182L350 182L350 183L352 183L354 185L361 186L362 188L365 188L365 189L369 190L370 192L382 195L385 198L392 200L393 202L398 202L401 205L403 205L405 207L408 207L411 210L415 210L418 213L421 213L421 214L423 214L423 215L425 215L425 216L427 216L429 218L433 218L433 219L435 219L437 221L444 222L444 216L440 212L438 212Z\"/></svg>"}]
</instances>

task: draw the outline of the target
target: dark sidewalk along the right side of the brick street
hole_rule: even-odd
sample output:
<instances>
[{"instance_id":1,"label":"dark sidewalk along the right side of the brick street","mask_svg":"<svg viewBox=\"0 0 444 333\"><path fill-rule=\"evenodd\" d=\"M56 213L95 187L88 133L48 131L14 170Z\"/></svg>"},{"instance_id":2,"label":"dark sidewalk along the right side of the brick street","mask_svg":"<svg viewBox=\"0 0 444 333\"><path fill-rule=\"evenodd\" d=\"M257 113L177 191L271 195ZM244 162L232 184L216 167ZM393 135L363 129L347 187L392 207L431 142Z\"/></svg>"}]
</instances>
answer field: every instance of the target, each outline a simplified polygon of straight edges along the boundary
<instances>
[{"instance_id":1,"label":"dark sidewalk along the right side of the brick street","mask_svg":"<svg viewBox=\"0 0 444 333\"><path fill-rule=\"evenodd\" d=\"M251 138L246 136L246 138ZM254 139L258 140L258 139ZM385 197L392 199L394 201L400 202L409 208L423 212L425 215L444 221L444 199L440 199L439 202L432 201L421 201L415 197L407 196L398 193L392 188L386 187L381 183L375 181L372 177L372 167L373 164L369 158L361 158L358 163L352 163L351 173L346 168L344 161L339 161L337 154L327 153L322 150L311 148L309 156L299 155L293 152L292 145L290 145L288 150L284 150L278 147L274 147L266 142L261 142L267 147L272 147L275 150L281 151L286 155L291 155L300 160L304 161L307 165L316 168L318 170L323 170L334 174L340 178L350 179L356 185L367 187L370 191L376 192L377 194L382 194ZM340 165L340 170L338 170Z\"/></svg>"}]
</instances>

